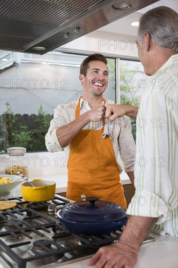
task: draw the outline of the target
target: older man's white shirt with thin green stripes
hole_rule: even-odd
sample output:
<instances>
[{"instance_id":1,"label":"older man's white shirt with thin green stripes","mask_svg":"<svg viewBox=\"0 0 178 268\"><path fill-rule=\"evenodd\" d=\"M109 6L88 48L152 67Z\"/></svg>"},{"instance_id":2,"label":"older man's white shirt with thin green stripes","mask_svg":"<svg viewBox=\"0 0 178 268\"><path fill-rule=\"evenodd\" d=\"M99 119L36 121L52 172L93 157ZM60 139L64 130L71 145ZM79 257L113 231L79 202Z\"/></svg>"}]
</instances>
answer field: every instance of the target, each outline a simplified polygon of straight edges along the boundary
<instances>
[{"instance_id":1,"label":"older man's white shirt with thin green stripes","mask_svg":"<svg viewBox=\"0 0 178 268\"><path fill-rule=\"evenodd\" d=\"M178 55L148 78L136 137L136 192L127 213L159 217L153 232L178 237Z\"/></svg>"}]
</instances>

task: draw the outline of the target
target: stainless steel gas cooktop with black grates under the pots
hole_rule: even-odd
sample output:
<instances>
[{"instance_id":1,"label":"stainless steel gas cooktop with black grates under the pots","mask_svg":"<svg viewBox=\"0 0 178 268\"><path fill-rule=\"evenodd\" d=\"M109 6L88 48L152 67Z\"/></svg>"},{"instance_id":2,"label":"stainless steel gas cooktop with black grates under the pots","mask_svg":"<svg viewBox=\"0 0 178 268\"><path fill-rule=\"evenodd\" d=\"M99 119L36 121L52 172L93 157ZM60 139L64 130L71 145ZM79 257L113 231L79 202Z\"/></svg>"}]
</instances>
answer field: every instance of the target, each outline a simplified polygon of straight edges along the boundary
<instances>
[{"instance_id":1,"label":"stainless steel gas cooktop with black grates under the pots","mask_svg":"<svg viewBox=\"0 0 178 268\"><path fill-rule=\"evenodd\" d=\"M58 195L43 203L29 203L22 197L3 200L17 205L0 211L1 268L52 268L92 255L101 246L116 242L122 233L122 230L91 236L71 233L56 216L69 203Z\"/></svg>"}]
</instances>

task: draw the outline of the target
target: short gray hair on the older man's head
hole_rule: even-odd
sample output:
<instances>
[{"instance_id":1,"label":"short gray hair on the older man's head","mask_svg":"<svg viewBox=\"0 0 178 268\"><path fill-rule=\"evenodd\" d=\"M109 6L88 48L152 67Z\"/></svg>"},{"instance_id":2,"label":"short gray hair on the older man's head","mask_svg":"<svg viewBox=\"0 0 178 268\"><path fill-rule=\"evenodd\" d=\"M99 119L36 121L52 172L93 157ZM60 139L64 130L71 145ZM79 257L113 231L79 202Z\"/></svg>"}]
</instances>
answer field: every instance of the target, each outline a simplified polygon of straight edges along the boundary
<instances>
[{"instance_id":1,"label":"short gray hair on the older man's head","mask_svg":"<svg viewBox=\"0 0 178 268\"><path fill-rule=\"evenodd\" d=\"M138 37L148 32L155 43L178 52L178 13L167 6L147 11L139 19Z\"/></svg>"}]
</instances>

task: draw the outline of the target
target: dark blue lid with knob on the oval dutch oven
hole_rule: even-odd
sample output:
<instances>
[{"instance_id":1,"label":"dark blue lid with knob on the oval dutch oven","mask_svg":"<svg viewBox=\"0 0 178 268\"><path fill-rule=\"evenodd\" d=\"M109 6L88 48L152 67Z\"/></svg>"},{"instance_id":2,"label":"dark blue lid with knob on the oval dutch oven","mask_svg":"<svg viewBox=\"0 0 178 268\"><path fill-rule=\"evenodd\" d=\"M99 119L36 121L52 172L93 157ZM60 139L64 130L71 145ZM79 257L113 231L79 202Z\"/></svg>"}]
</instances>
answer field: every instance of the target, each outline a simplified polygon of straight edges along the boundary
<instances>
[{"instance_id":1,"label":"dark blue lid with knob on the oval dutch oven","mask_svg":"<svg viewBox=\"0 0 178 268\"><path fill-rule=\"evenodd\" d=\"M59 212L59 218L75 222L114 222L125 218L126 211L117 203L99 200L98 197L86 197L65 206Z\"/></svg>"}]
</instances>

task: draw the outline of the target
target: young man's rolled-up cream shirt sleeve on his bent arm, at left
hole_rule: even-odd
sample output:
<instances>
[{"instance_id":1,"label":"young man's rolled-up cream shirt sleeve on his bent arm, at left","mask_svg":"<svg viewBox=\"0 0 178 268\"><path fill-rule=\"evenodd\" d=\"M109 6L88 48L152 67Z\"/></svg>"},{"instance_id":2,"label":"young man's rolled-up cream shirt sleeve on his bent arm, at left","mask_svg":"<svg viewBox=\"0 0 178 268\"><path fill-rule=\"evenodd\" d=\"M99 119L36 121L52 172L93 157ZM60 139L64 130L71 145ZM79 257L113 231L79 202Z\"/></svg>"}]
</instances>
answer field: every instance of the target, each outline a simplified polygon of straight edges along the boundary
<instances>
[{"instance_id":1,"label":"young man's rolled-up cream shirt sleeve on his bent arm, at left","mask_svg":"<svg viewBox=\"0 0 178 268\"><path fill-rule=\"evenodd\" d=\"M50 122L48 133L45 136L45 144L49 152L58 152L63 149L58 142L56 129L62 126L65 127L68 122L69 118L64 109L62 109L61 105L57 106L54 110L53 119Z\"/></svg>"}]
</instances>

